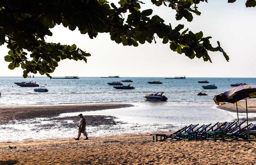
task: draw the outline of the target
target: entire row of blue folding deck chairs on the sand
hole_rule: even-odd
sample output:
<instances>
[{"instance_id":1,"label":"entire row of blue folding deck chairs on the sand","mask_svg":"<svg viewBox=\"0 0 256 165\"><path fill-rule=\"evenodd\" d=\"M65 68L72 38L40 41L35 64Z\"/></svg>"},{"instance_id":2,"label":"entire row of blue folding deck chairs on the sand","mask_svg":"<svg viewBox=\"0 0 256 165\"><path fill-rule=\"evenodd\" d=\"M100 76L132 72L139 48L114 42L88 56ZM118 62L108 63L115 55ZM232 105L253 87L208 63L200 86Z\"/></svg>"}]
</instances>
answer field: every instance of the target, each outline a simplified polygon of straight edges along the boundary
<instances>
[{"instance_id":1,"label":"entire row of blue folding deck chairs on the sand","mask_svg":"<svg viewBox=\"0 0 256 165\"><path fill-rule=\"evenodd\" d=\"M245 121L237 122L217 122L216 124L206 124L198 127L197 125L185 126L176 132L166 134L153 134L153 142L169 140L222 140L233 141L236 139L246 139L249 142L256 141L256 124L250 123L242 127Z\"/></svg>"}]
</instances>

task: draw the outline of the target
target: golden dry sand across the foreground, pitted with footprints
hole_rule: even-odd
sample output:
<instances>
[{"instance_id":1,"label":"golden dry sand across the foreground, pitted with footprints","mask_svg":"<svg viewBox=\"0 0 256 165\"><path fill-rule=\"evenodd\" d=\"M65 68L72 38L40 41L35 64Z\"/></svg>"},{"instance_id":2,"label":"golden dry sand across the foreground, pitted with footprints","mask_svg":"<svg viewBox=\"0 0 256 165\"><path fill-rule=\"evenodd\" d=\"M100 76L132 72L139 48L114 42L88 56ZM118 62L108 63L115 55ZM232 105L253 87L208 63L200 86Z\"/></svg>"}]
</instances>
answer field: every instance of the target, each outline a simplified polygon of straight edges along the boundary
<instances>
[{"instance_id":1,"label":"golden dry sand across the foreground, pitted with footprints","mask_svg":"<svg viewBox=\"0 0 256 165\"><path fill-rule=\"evenodd\" d=\"M247 141L163 141L152 136L90 137L0 143L0 164L248 164L256 143ZM16 149L10 149L8 146Z\"/></svg>"}]
</instances>

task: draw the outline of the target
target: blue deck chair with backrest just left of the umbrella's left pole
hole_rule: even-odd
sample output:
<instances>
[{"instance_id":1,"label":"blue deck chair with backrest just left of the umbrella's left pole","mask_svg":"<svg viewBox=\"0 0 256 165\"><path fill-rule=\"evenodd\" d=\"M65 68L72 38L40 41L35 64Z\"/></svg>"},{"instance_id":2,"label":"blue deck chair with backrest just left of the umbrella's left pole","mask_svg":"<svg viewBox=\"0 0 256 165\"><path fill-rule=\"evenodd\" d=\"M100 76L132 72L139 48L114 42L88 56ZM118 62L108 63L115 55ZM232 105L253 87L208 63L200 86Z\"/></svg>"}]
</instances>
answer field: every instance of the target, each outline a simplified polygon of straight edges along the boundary
<instances>
[{"instance_id":1,"label":"blue deck chair with backrest just left of the umbrella's left pole","mask_svg":"<svg viewBox=\"0 0 256 165\"><path fill-rule=\"evenodd\" d=\"M222 141L224 141L224 136L225 136L225 132L228 132L232 129L232 126L235 125L235 122L226 122L226 124L223 124L219 127L217 127L217 129L215 131L208 131L206 132L207 137L206 140L214 140L216 141L217 139L221 139Z\"/></svg>"}]
</instances>

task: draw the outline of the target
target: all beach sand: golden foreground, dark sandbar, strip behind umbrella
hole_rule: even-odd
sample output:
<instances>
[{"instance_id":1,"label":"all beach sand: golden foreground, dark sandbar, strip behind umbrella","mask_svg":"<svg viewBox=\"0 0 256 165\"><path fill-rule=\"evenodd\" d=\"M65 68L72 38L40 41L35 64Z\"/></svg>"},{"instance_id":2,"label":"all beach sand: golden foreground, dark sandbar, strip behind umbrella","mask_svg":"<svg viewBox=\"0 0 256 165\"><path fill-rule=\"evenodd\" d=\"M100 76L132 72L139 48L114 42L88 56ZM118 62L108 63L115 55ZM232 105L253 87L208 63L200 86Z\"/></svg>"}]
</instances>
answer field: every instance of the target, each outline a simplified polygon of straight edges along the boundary
<instances>
[{"instance_id":1,"label":"all beach sand: golden foreground, dark sandbar, strip behind umbrella","mask_svg":"<svg viewBox=\"0 0 256 165\"><path fill-rule=\"evenodd\" d=\"M242 104L240 102L239 104ZM248 112L255 112L255 101L249 100ZM82 112L108 108L129 107L131 104L90 104L71 106L14 106L1 107L1 123L10 119L55 116L64 112ZM233 104L219 108L234 111ZM250 109L250 110L249 110ZM241 113L244 110L239 110ZM11 114L11 115L10 115ZM71 117L70 120L77 120ZM113 122L113 118L90 117L101 124ZM118 136L93 137L89 140L58 138L48 140L24 140L0 142L0 164L256 164L256 143L246 140L222 141L163 141L152 142L153 133L120 134ZM165 134L170 134L166 132ZM16 149L10 149L9 146Z\"/></svg>"}]
</instances>

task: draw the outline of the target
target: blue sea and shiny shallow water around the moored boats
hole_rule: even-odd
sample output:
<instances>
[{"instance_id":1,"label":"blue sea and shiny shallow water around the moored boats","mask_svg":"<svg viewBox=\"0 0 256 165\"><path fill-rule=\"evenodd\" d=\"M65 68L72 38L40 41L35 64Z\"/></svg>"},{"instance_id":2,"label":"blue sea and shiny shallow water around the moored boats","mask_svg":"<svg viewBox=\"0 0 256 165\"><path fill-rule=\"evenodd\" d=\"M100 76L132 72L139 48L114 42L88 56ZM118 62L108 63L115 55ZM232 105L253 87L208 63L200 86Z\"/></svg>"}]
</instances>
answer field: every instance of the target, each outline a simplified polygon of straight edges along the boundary
<instances>
[{"instance_id":1,"label":"blue sea and shiny shallow water around the moored boats","mask_svg":"<svg viewBox=\"0 0 256 165\"><path fill-rule=\"evenodd\" d=\"M108 82L131 79L135 89L120 90ZM208 80L217 89L204 89L197 81ZM34 92L36 87L19 87L14 82L33 81L45 86L48 92ZM149 84L148 81L161 81L163 84ZM90 136L107 136L123 133L152 133L175 130L191 123L216 123L236 119L236 113L216 108L213 97L233 87L230 84L247 83L256 85L256 78L200 78L165 79L164 77L121 77L100 78L80 77L80 79L50 79L48 77L22 78L0 77L1 106L22 105L63 105L91 103L131 103L134 107L101 111L82 112L83 115L114 116L116 125L87 126ZM45 85L47 84L47 85ZM146 100L143 95L164 92L166 102ZM207 96L197 96L197 93ZM244 114L239 114L244 118ZM0 125L0 141L75 137L78 123L66 121L66 127L57 118L77 116L77 113L60 114L52 118L35 118L10 121ZM250 117L255 116L251 114ZM37 122L35 122L35 120ZM79 118L78 118L79 121ZM14 123L14 124L13 124ZM37 124L35 124L37 123ZM38 123L48 123L51 127L42 129ZM70 127L70 125L74 125ZM88 123L88 125L90 125ZM37 129L38 127L38 129ZM60 129L61 127L61 129ZM36 131L40 130L40 131ZM13 134L19 132L19 134Z\"/></svg>"}]
</instances>

